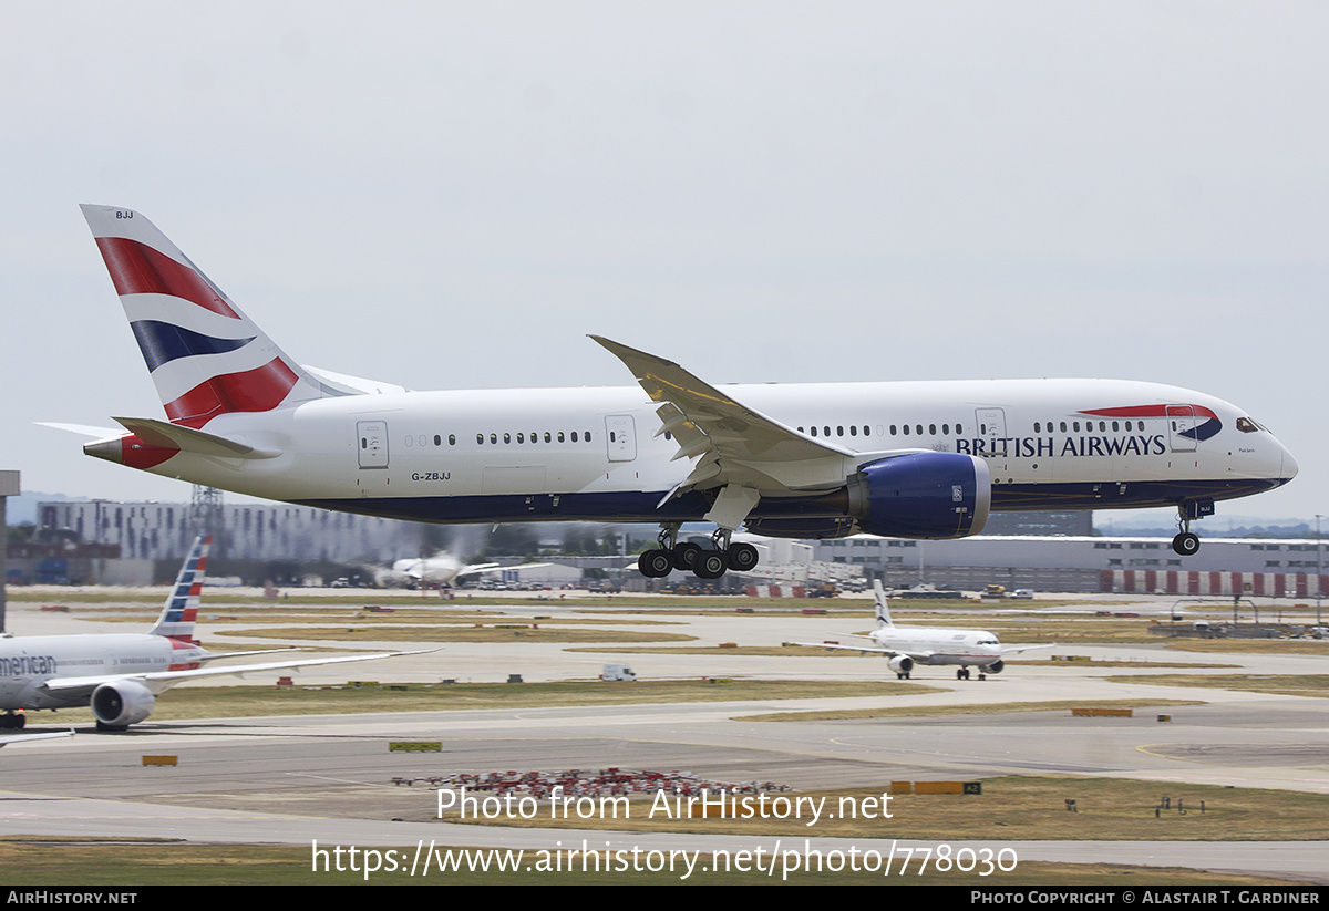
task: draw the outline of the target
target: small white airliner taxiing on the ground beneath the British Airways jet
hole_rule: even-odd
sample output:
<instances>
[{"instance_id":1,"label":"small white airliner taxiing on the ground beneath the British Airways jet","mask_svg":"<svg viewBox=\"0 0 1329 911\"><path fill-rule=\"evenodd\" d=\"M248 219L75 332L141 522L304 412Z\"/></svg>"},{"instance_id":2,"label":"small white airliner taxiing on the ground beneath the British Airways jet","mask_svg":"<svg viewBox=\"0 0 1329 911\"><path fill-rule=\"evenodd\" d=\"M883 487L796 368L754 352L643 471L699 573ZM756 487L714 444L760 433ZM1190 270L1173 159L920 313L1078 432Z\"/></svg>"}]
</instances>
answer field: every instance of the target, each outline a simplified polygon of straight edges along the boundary
<instances>
[{"instance_id":1,"label":"small white airliner taxiing on the ground beneath the British Airways jet","mask_svg":"<svg viewBox=\"0 0 1329 911\"><path fill-rule=\"evenodd\" d=\"M890 669L900 680L908 680L916 664L958 664L956 680L969 680L969 668L978 668L978 679L986 680L989 673L1001 673L1006 667L1006 656L1029 652L1047 645L1002 645L994 633L986 629L956 629L953 627L897 627L890 620L886 607L886 592L880 580L872 583L877 595L877 628L860 639L870 639L872 645L840 645L837 643L795 643L817 648L837 648L851 652L873 652L885 655ZM849 633L856 636L857 633Z\"/></svg>"}]
</instances>

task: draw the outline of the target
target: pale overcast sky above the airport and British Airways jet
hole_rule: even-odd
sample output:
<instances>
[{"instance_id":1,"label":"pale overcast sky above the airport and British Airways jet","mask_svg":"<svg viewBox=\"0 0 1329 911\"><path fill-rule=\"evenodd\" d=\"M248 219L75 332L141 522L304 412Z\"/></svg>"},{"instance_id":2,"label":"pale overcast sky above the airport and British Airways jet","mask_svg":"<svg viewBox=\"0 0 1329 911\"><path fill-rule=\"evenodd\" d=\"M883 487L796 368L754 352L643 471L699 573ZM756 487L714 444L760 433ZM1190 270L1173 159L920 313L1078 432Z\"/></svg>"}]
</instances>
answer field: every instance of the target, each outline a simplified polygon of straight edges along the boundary
<instances>
[{"instance_id":1,"label":"pale overcast sky above the airport and British Airways jet","mask_svg":"<svg viewBox=\"0 0 1329 911\"><path fill-rule=\"evenodd\" d=\"M1227 398L1329 513L1329 7L4 4L25 490L183 501L33 421L161 417L77 203L296 360L417 389L1099 376ZM1212 522L1212 521L1211 521ZM1203 530L1203 526L1201 526Z\"/></svg>"}]
</instances>

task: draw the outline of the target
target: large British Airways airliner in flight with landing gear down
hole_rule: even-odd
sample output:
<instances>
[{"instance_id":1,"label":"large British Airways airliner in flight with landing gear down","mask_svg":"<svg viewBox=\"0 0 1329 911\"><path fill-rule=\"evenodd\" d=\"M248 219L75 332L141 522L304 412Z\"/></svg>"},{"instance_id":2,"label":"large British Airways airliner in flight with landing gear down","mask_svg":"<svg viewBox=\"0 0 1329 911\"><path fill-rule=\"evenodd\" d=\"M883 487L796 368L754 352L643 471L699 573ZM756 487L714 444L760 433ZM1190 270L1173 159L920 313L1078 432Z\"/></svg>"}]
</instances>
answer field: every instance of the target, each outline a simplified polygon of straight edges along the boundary
<instances>
[{"instance_id":1,"label":"large British Airways airliner in flight with landing gear down","mask_svg":"<svg viewBox=\"0 0 1329 911\"><path fill-rule=\"evenodd\" d=\"M659 522L645 575L716 578L758 562L731 544L740 526L960 538L989 510L1175 506L1174 547L1193 554L1192 519L1297 471L1241 409L1151 382L716 389L593 336L639 388L411 392L300 367L142 215L84 215L169 420L57 426L100 434L89 456L242 494L423 522ZM678 540L696 521L712 548Z\"/></svg>"}]
</instances>

